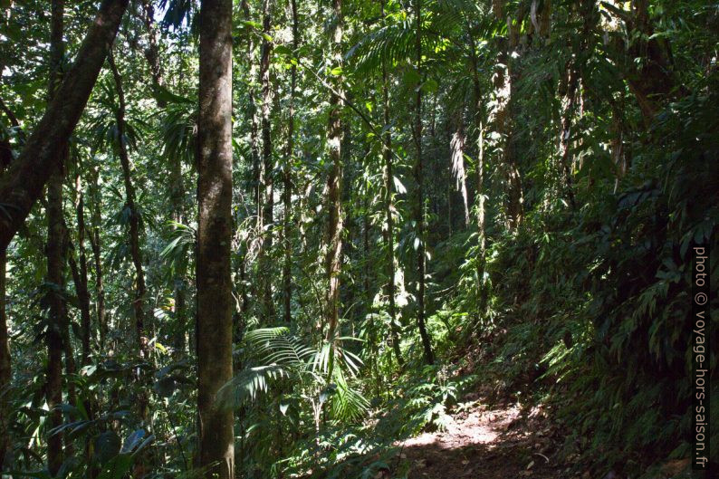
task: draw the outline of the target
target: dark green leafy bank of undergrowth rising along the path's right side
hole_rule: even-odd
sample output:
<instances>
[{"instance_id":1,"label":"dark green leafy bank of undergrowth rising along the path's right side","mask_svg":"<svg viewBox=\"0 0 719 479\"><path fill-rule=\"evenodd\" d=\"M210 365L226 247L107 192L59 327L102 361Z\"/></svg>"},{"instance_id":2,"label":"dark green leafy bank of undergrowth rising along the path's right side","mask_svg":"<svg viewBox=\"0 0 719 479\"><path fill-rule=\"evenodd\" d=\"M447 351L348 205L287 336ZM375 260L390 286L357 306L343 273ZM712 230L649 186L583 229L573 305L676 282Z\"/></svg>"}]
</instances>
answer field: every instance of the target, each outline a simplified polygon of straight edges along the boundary
<instances>
[{"instance_id":1,"label":"dark green leafy bank of undergrowth rising along the path's right side","mask_svg":"<svg viewBox=\"0 0 719 479\"><path fill-rule=\"evenodd\" d=\"M719 219L719 178L708 166L718 159L716 120L705 114L705 101L711 97L673 105L642 139L644 153L618 187L606 181L581 198L585 206L578 210L538 201L515 234L495 237L486 279L492 296L481 316L471 262L465 273L443 272L439 262L437 276L457 284L429 321L446 366L422 368L415 351L417 363L389 388L378 386L381 399L373 406L387 412L356 437L362 445L354 451L357 459L333 456L341 465L328 477L348 468L371 477L389 467L394 455L386 448L443 427L465 393L480 389L492 391L485 400L550 406L564 436L556 458L579 464L578 473L589 466L599 477L609 471L656 477L658 465L687 457L692 247L716 246ZM676 138L679 123L684 133L696 129L694 141ZM441 257L452 264L451 252L466 239L458 235L439 245ZM714 258L714 284L716 266ZM713 334L710 341L719 339ZM714 408L719 390L712 384ZM372 442L365 443L368 434ZM714 430L712 442L717 439ZM385 459L350 467L367 455Z\"/></svg>"}]
</instances>

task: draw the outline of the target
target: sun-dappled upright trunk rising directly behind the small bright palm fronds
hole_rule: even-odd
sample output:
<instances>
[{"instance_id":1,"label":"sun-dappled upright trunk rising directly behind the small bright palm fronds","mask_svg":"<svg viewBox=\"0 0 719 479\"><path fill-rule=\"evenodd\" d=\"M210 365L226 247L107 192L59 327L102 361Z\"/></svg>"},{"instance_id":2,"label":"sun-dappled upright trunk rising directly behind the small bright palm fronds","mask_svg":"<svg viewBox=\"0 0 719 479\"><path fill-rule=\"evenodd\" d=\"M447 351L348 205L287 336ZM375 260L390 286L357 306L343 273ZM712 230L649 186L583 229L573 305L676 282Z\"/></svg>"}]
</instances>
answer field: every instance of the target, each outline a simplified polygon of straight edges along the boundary
<instances>
[{"instance_id":1,"label":"sun-dappled upright trunk rising directly behind the small bright palm fronds","mask_svg":"<svg viewBox=\"0 0 719 479\"><path fill-rule=\"evenodd\" d=\"M331 21L331 64L339 67L342 62L342 1L332 0ZM327 340L331 344L329 377L334 366L334 340L340 315L340 273L342 267L342 83L340 77L332 80L333 91L330 97L330 118L327 125L327 148L330 157L330 172L327 177L328 220L326 231L327 253L324 268L329 282L325 295L325 323L328 326Z\"/></svg>"}]
</instances>

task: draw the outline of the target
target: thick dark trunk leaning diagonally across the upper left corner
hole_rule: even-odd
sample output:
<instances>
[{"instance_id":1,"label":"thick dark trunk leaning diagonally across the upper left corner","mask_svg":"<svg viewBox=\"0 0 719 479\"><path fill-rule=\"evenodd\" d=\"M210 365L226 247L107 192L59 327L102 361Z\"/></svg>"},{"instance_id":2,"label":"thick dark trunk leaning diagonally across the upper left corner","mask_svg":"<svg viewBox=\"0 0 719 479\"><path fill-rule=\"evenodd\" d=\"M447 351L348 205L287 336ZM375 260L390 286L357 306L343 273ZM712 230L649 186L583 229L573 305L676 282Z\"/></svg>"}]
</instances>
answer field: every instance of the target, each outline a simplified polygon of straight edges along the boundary
<instances>
[{"instance_id":1,"label":"thick dark trunk leaning diagonally across the upper left corner","mask_svg":"<svg viewBox=\"0 0 719 479\"><path fill-rule=\"evenodd\" d=\"M57 147L67 142L80 120L128 1L102 2L59 91L20 156L0 181L0 203L11 206L5 207L7 214L0 216L0 251L5 251L34 202L43 194L45 183L57 169Z\"/></svg>"}]
</instances>

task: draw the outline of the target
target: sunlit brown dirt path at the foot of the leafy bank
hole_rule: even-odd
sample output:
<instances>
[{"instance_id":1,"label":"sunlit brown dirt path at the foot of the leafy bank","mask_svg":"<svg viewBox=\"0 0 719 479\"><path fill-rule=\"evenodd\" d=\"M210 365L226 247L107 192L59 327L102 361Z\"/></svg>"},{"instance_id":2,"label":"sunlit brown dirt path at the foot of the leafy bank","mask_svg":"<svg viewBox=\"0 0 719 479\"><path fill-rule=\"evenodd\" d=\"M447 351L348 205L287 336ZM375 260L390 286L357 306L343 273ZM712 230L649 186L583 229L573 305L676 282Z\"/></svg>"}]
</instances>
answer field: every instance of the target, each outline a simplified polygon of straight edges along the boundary
<instances>
[{"instance_id":1,"label":"sunlit brown dirt path at the foot of the leafy bank","mask_svg":"<svg viewBox=\"0 0 719 479\"><path fill-rule=\"evenodd\" d=\"M453 416L446 431L405 441L399 469L408 468L409 479L574 477L551 459L559 439L541 408L476 405Z\"/></svg>"}]
</instances>

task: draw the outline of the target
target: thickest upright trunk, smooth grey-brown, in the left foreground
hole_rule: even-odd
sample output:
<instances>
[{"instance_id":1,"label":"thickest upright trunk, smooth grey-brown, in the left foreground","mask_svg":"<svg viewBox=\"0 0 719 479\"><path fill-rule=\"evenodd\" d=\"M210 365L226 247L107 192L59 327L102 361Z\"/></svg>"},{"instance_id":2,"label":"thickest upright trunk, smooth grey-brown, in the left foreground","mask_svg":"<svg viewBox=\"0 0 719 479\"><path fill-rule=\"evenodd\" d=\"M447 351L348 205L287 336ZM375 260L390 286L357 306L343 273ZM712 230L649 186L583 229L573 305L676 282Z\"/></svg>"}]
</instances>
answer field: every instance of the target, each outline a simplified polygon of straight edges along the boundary
<instances>
[{"instance_id":1,"label":"thickest upright trunk, smooth grey-brown, in the left foreground","mask_svg":"<svg viewBox=\"0 0 719 479\"><path fill-rule=\"evenodd\" d=\"M232 378L232 0L200 7L197 200L199 466L234 479L234 417L216 392Z\"/></svg>"}]
</instances>

